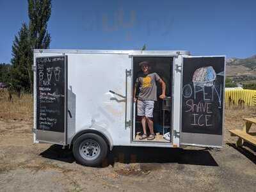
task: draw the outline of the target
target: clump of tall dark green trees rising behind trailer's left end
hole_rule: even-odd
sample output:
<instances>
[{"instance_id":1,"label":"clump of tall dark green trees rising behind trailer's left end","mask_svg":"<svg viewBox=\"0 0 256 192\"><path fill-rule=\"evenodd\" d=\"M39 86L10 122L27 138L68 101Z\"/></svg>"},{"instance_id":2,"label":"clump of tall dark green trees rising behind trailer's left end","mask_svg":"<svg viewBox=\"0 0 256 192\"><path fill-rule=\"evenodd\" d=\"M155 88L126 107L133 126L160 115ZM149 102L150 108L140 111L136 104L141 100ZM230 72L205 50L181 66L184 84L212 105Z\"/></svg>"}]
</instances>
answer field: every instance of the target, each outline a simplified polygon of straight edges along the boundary
<instances>
[{"instance_id":1,"label":"clump of tall dark green trees rising behind trailer's left end","mask_svg":"<svg viewBox=\"0 0 256 192\"><path fill-rule=\"evenodd\" d=\"M29 26L22 24L12 46L10 84L20 93L33 92L33 49L49 49L51 36L47 22L51 17L51 0L28 0Z\"/></svg>"}]
</instances>

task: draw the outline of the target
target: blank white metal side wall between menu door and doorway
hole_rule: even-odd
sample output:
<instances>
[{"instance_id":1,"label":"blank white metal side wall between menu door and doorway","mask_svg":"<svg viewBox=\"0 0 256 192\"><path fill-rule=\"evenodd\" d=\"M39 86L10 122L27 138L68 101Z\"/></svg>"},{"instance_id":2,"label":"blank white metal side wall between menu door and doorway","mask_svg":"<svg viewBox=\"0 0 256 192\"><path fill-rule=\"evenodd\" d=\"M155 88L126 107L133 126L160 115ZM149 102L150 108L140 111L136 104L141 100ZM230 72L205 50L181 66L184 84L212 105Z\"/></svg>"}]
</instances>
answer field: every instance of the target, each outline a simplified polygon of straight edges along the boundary
<instances>
[{"instance_id":1,"label":"blank white metal side wall between menu door and doorway","mask_svg":"<svg viewBox=\"0 0 256 192\"><path fill-rule=\"evenodd\" d=\"M125 129L125 100L109 90L125 96L125 69L131 68L127 54L67 54L68 93L72 92L76 111L73 132L90 127L111 136L113 145L129 145L130 129ZM131 81L127 95L131 95ZM75 99L74 99L75 98ZM69 99L70 102L70 99ZM131 106L128 99L127 106ZM127 116L130 117L130 109ZM129 120L129 119L128 119ZM74 134L68 135L70 141Z\"/></svg>"}]
</instances>

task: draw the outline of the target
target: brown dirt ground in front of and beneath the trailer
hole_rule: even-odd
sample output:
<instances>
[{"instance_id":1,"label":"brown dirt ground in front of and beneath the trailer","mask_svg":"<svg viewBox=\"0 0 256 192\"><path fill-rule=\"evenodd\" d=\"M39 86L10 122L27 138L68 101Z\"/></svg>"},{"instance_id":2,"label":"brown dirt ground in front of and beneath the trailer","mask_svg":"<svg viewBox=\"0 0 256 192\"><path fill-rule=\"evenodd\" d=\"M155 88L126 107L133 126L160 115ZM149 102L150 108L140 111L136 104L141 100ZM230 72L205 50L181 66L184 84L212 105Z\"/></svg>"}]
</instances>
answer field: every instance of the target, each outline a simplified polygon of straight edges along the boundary
<instances>
[{"instance_id":1,"label":"brown dirt ground in front of and beneath the trailer","mask_svg":"<svg viewBox=\"0 0 256 192\"><path fill-rule=\"evenodd\" d=\"M0 118L0 191L256 191L256 147L236 148L227 131L242 126L226 117L221 150L115 147L90 168L70 150L33 145L31 120Z\"/></svg>"}]
</instances>

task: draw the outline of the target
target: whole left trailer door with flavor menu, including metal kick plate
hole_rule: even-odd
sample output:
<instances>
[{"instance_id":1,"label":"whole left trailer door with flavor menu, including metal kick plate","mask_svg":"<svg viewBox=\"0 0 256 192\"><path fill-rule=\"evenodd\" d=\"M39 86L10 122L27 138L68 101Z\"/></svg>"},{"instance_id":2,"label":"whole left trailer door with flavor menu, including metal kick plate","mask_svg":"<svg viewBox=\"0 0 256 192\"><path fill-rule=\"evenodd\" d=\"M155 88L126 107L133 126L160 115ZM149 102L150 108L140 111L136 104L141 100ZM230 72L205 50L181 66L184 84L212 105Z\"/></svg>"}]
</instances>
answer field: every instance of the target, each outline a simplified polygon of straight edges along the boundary
<instances>
[{"instance_id":1,"label":"whole left trailer door with flavor menu, including metal kick plate","mask_svg":"<svg viewBox=\"0 0 256 192\"><path fill-rule=\"evenodd\" d=\"M67 144L67 56L35 59L35 141Z\"/></svg>"}]
</instances>

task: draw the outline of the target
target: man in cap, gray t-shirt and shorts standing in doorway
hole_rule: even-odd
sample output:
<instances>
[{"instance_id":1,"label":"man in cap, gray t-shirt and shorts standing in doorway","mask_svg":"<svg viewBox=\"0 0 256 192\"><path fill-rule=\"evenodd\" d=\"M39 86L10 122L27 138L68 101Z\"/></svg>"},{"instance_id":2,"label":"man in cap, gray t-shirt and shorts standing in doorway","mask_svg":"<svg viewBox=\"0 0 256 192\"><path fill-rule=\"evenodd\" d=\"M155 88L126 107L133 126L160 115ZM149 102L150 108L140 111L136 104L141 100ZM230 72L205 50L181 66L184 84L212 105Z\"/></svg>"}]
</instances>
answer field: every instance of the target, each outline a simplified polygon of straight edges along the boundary
<instances>
[{"instance_id":1,"label":"man in cap, gray t-shirt and shorts standing in doorway","mask_svg":"<svg viewBox=\"0 0 256 192\"><path fill-rule=\"evenodd\" d=\"M156 81L158 81L162 86L162 94L159 96L160 99L164 99L166 85L164 81L157 75L157 73L150 73L150 65L147 61L139 63L141 70L143 72L142 77L137 77L134 85L134 102L137 101L136 90L139 87L138 95L138 116L141 116L141 125L143 127L143 135L141 135L140 140L154 140L154 126L153 126L153 110L154 102L157 101L157 87ZM150 135L147 136L146 122L150 131Z\"/></svg>"}]
</instances>

